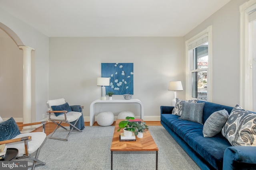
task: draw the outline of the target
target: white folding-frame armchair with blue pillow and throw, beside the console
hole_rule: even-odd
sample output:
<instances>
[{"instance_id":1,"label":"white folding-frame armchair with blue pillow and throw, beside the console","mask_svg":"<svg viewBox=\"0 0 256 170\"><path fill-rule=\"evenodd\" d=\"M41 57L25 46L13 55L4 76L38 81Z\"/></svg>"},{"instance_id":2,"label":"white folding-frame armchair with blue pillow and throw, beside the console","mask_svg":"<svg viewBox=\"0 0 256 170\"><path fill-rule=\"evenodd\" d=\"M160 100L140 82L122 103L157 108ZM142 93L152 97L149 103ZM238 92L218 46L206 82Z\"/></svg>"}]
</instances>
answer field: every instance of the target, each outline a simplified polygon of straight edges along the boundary
<instances>
[{"instance_id":1,"label":"white folding-frame armchair with blue pillow and throw, beside the console","mask_svg":"<svg viewBox=\"0 0 256 170\"><path fill-rule=\"evenodd\" d=\"M50 139L67 141L68 136L72 131L82 132L82 129L84 129L84 118L82 115L83 106L69 106L64 98L48 100L46 102L46 105L49 109L49 111L47 111L47 113L49 114L49 121L52 121L57 125L53 133L50 135ZM70 129L62 126L61 123L68 123L70 125ZM69 131L66 138L53 137L58 127L62 127L63 129Z\"/></svg>"}]
</instances>

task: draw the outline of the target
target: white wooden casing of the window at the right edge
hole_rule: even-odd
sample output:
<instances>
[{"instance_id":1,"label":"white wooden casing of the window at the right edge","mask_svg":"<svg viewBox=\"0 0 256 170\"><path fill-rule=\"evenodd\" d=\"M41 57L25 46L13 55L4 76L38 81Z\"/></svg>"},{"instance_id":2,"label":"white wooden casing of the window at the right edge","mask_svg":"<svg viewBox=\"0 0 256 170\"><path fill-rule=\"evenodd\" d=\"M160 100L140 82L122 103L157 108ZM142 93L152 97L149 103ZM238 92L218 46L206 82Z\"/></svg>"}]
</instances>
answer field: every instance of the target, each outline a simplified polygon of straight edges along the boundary
<instances>
[{"instance_id":1,"label":"white wooden casing of the window at the right edge","mask_svg":"<svg viewBox=\"0 0 256 170\"><path fill-rule=\"evenodd\" d=\"M252 24L249 14L256 10L256 0L249 0L240 6L240 106L247 110L253 108L253 58L252 38L249 37Z\"/></svg>"}]
</instances>

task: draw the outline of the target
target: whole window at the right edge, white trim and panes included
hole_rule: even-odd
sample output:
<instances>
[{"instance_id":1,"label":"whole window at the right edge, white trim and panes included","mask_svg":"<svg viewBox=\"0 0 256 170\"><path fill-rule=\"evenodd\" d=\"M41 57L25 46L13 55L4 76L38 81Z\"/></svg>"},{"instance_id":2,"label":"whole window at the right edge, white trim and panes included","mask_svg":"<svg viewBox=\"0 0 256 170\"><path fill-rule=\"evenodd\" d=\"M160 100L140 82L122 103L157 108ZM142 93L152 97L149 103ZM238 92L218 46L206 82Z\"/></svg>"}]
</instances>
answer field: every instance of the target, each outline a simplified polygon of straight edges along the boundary
<instances>
[{"instance_id":1,"label":"whole window at the right edge, white trim and panes included","mask_svg":"<svg viewBox=\"0 0 256 170\"><path fill-rule=\"evenodd\" d=\"M256 0L240 6L240 106L256 111Z\"/></svg>"}]
</instances>

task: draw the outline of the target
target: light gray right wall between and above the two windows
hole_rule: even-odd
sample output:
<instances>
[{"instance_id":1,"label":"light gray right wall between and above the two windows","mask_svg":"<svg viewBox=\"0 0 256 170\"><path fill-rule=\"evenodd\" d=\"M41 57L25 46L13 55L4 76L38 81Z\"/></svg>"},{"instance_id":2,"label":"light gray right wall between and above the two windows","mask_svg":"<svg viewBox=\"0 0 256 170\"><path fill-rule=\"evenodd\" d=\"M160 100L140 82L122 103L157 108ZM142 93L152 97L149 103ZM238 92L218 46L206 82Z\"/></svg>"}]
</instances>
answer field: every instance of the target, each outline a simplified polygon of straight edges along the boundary
<instances>
[{"instance_id":1,"label":"light gray right wall between and above the two windows","mask_svg":"<svg viewBox=\"0 0 256 170\"><path fill-rule=\"evenodd\" d=\"M212 102L232 107L239 104L239 6L246 1L247 0L230 1L223 8L184 36L185 44L185 41L206 29L209 25L212 25Z\"/></svg>"}]
</instances>

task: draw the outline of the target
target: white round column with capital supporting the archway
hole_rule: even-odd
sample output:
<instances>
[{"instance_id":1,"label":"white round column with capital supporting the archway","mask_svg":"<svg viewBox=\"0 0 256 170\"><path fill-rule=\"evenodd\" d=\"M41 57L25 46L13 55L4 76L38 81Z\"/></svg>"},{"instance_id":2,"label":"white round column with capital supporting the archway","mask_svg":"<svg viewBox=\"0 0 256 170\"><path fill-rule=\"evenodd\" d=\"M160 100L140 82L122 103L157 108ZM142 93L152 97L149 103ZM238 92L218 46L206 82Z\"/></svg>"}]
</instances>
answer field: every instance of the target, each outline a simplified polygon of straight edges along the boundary
<instances>
[{"instance_id":1,"label":"white round column with capital supporting the archway","mask_svg":"<svg viewBox=\"0 0 256 170\"><path fill-rule=\"evenodd\" d=\"M32 122L31 96L31 51L28 46L19 46L23 51L23 124ZM31 131L31 127L24 127L22 131Z\"/></svg>"}]
</instances>

